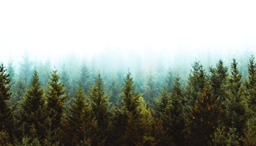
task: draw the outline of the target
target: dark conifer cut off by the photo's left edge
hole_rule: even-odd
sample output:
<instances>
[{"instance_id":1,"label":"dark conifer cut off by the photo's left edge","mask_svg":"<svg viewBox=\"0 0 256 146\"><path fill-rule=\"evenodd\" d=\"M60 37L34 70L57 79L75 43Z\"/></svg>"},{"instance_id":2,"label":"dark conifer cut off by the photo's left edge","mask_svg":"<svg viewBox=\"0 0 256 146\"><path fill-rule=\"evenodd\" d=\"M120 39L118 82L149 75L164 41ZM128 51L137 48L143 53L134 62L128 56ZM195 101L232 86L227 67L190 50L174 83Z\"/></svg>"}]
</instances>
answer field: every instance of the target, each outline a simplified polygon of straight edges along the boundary
<instances>
[{"instance_id":1,"label":"dark conifer cut off by the photo's left edge","mask_svg":"<svg viewBox=\"0 0 256 146\"><path fill-rule=\"evenodd\" d=\"M6 73L2 63L0 65L0 131L4 130L5 133L13 134L13 111L15 107L10 108L8 105L12 95L10 81L10 74Z\"/></svg>"}]
</instances>

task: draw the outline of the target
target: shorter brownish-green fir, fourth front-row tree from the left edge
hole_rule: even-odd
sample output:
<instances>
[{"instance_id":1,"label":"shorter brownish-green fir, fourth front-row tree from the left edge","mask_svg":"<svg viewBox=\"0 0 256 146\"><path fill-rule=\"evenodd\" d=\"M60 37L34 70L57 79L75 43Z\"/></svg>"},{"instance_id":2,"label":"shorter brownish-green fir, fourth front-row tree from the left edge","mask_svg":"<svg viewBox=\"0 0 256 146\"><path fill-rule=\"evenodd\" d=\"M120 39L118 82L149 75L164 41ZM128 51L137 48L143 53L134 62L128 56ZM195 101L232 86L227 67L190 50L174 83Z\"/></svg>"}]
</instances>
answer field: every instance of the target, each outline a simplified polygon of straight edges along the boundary
<instances>
[{"instance_id":1,"label":"shorter brownish-green fir, fourth front-row tree from the left edge","mask_svg":"<svg viewBox=\"0 0 256 146\"><path fill-rule=\"evenodd\" d=\"M86 103L87 98L81 87L77 89L76 96L68 109L68 114L63 118L62 139L65 145L88 144L96 138L97 120L95 120L91 106Z\"/></svg>"}]
</instances>

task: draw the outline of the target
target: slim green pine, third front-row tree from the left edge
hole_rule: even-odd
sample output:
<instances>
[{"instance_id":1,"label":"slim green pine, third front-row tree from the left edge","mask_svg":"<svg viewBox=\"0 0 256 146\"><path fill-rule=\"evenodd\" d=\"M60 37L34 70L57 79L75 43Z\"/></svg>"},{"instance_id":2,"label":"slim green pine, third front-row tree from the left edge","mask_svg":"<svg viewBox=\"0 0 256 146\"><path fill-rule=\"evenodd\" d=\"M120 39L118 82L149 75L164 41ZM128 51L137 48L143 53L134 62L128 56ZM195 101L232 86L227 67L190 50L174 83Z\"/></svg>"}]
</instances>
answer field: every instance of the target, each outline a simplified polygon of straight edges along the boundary
<instances>
[{"instance_id":1,"label":"slim green pine, third front-row tree from the left edge","mask_svg":"<svg viewBox=\"0 0 256 146\"><path fill-rule=\"evenodd\" d=\"M57 70L51 73L52 77L48 82L47 97L47 111L48 117L51 121L50 130L55 130L60 127L61 118L65 109L64 100L67 98L66 89L64 84L59 82L60 76Z\"/></svg>"}]
</instances>

